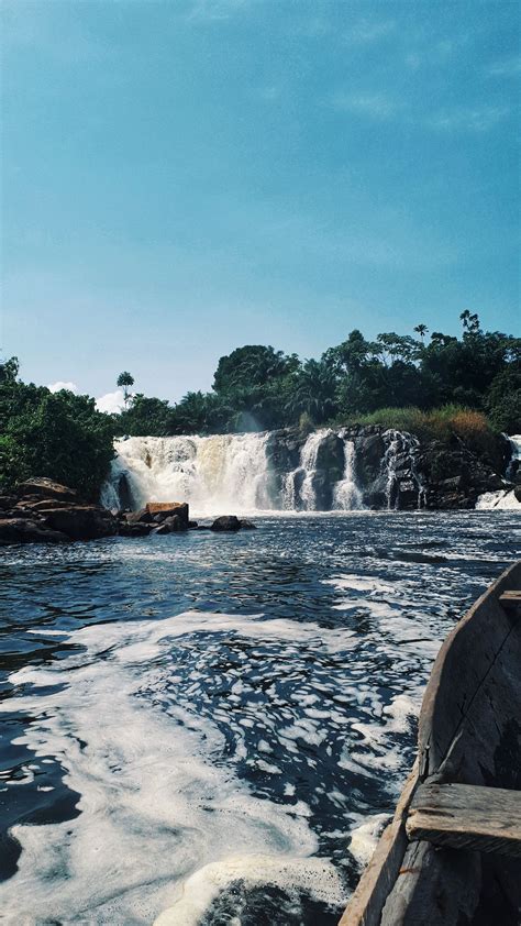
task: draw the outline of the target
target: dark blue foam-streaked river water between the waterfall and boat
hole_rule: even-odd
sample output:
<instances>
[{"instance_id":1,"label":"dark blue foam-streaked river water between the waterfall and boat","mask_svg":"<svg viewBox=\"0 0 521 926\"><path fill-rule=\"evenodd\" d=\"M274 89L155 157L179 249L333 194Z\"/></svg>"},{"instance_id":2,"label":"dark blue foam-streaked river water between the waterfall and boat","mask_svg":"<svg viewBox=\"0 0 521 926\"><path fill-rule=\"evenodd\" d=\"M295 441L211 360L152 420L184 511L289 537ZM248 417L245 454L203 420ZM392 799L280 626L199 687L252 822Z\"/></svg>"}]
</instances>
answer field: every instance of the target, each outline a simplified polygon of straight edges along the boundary
<instances>
[{"instance_id":1,"label":"dark blue foam-streaked river water between the waterfall and boat","mask_svg":"<svg viewBox=\"0 0 521 926\"><path fill-rule=\"evenodd\" d=\"M3 922L337 922L520 521L256 522L1 551Z\"/></svg>"}]
</instances>

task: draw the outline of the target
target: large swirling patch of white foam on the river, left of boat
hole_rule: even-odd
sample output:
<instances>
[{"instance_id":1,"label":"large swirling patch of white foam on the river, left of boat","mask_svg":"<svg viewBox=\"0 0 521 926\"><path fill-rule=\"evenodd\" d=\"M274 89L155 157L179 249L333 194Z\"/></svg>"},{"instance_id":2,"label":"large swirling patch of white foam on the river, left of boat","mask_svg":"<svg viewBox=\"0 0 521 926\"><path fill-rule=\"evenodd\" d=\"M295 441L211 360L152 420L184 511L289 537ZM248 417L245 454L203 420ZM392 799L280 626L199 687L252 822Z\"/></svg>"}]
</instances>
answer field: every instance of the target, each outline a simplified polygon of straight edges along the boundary
<instances>
[{"instance_id":1,"label":"large swirling patch of white foam on the river, left of boat","mask_svg":"<svg viewBox=\"0 0 521 926\"><path fill-rule=\"evenodd\" d=\"M86 653L11 676L16 687L32 688L16 705L34 716L23 742L36 757L60 762L68 786L81 794L81 814L64 824L13 828L23 852L20 871L0 890L7 922L20 923L21 916L75 922L88 910L95 911L91 922L149 923L186 890L179 914L185 916L193 905L187 900L193 884L207 883L203 894L213 897L215 885L239 871L237 852L244 853L246 881L255 867L248 858L258 862L260 853L265 861L256 883L273 881L278 869L276 883L313 892L326 875L337 902L342 891L329 862L302 860L317 849L307 805L254 796L222 763L225 742L218 726L177 699L166 709L162 704L165 687L176 681L170 664L160 661L162 647L209 628L278 644L298 631L291 621L201 614L98 626L71 635ZM303 631L312 639L317 628ZM337 637L333 632L329 641L333 651ZM197 673L190 681L197 685ZM193 691L185 694L192 697Z\"/></svg>"}]
</instances>

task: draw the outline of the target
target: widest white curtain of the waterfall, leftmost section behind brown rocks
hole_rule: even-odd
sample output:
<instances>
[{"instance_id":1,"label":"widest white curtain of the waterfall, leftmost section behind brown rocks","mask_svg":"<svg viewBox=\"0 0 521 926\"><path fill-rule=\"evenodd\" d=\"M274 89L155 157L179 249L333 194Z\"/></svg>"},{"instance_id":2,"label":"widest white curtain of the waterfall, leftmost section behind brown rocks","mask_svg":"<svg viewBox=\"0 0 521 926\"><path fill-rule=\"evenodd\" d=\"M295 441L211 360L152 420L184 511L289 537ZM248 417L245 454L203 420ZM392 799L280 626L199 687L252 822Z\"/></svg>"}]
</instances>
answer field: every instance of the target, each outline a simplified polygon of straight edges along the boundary
<instances>
[{"instance_id":1,"label":"widest white curtain of the waterfall, leftmost section behind brown rocks","mask_svg":"<svg viewBox=\"0 0 521 926\"><path fill-rule=\"evenodd\" d=\"M257 433L119 440L103 504L125 476L134 508L146 501L188 501L196 515L270 508L266 441Z\"/></svg>"}]
</instances>

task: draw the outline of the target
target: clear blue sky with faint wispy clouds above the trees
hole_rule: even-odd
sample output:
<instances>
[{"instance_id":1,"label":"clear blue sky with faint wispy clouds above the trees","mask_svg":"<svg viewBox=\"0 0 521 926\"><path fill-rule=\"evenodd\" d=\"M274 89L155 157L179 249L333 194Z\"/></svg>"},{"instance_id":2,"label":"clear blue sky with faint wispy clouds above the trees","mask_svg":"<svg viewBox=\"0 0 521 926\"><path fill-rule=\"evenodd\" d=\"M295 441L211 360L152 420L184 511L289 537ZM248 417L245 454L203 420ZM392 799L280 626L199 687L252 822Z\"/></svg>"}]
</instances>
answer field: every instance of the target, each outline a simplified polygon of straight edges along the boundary
<instances>
[{"instance_id":1,"label":"clear blue sky with faint wispy clouds above the trees","mask_svg":"<svg viewBox=\"0 0 521 926\"><path fill-rule=\"evenodd\" d=\"M0 349L118 401L247 343L520 333L518 2L3 0Z\"/></svg>"}]
</instances>

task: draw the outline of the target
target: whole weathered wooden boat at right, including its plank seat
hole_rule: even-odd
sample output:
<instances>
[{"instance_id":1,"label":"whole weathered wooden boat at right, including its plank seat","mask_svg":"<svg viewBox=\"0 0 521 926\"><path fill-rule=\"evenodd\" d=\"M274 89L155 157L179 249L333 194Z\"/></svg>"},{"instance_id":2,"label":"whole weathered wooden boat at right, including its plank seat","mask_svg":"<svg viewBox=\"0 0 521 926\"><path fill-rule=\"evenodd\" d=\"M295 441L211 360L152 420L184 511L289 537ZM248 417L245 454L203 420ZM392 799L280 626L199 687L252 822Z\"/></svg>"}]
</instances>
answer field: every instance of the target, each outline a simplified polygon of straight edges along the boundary
<instances>
[{"instance_id":1,"label":"whole weathered wooden boat at right, including its plank seat","mask_svg":"<svg viewBox=\"0 0 521 926\"><path fill-rule=\"evenodd\" d=\"M443 643L418 759L340 926L521 923L521 561Z\"/></svg>"}]
</instances>

